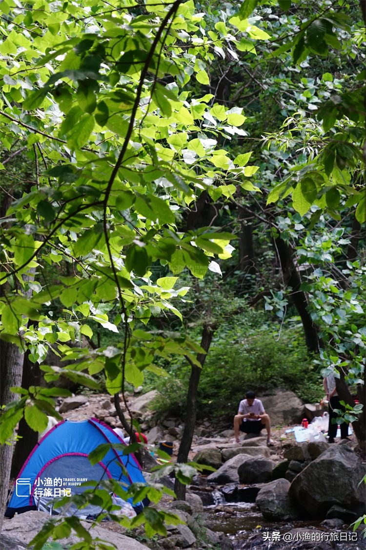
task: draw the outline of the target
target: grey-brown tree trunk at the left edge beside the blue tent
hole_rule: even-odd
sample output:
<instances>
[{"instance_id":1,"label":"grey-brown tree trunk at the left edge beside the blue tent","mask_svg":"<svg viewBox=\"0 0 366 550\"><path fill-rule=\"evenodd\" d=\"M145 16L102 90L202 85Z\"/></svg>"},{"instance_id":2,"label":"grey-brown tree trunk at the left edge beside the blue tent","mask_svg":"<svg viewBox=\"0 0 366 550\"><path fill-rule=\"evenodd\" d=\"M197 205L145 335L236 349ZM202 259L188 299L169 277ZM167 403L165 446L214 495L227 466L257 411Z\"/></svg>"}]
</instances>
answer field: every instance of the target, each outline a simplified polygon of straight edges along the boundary
<instances>
[{"instance_id":1,"label":"grey-brown tree trunk at the left edge beside the blue tent","mask_svg":"<svg viewBox=\"0 0 366 550\"><path fill-rule=\"evenodd\" d=\"M18 346L0 340L0 405L18 399L10 388L21 385L23 361L24 354ZM0 533L7 507L13 449L13 444L0 445Z\"/></svg>"}]
</instances>

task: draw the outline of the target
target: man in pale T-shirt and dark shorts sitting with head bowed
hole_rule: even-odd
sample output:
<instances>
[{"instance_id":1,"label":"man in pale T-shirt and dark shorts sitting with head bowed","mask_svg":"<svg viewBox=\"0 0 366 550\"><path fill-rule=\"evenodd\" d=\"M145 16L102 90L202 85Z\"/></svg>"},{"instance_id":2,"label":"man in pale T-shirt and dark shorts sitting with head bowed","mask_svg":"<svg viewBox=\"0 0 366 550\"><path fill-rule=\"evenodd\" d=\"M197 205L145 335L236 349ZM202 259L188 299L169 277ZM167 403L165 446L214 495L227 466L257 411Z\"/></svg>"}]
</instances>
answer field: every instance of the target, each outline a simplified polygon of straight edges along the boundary
<instances>
[{"instance_id":1,"label":"man in pale T-shirt and dark shorts sitting with head bowed","mask_svg":"<svg viewBox=\"0 0 366 550\"><path fill-rule=\"evenodd\" d=\"M264 410L262 401L256 399L254 392L247 392L246 399L240 401L238 414L234 416L235 441L239 443L239 430L244 433L257 433L267 430L267 445L274 444L271 439L271 420Z\"/></svg>"}]
</instances>

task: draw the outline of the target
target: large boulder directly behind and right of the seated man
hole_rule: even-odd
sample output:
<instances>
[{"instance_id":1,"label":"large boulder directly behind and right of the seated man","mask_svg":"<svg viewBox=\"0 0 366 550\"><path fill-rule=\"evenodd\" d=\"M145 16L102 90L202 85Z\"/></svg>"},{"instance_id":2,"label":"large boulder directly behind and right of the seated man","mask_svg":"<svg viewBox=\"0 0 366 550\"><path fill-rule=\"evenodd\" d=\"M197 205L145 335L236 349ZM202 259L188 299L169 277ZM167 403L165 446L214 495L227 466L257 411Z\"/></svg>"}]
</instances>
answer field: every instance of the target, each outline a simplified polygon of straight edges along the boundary
<instances>
[{"instance_id":1,"label":"large boulder directly behind and right of the seated man","mask_svg":"<svg viewBox=\"0 0 366 550\"><path fill-rule=\"evenodd\" d=\"M271 417L272 426L297 424L303 419L304 406L293 392L279 389L274 395L265 395L259 399Z\"/></svg>"}]
</instances>

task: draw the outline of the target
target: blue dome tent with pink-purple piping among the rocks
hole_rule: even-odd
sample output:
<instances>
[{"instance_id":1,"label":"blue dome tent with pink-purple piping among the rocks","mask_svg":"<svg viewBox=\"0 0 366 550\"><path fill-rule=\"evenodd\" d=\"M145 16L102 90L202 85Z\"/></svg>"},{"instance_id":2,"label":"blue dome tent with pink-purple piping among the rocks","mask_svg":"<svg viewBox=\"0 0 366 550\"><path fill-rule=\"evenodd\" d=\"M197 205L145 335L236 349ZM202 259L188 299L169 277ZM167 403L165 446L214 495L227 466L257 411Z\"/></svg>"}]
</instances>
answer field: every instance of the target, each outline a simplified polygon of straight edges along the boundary
<instances>
[{"instance_id":1,"label":"blue dome tent with pink-purple piping among the rocks","mask_svg":"<svg viewBox=\"0 0 366 550\"><path fill-rule=\"evenodd\" d=\"M134 455L123 455L112 447L102 461L92 466L88 454L102 443L125 442L104 422L94 418L59 422L25 461L5 516L12 518L15 513L37 509L39 502L81 493L86 489L81 484L89 480L112 478L125 488L131 483L146 483Z\"/></svg>"}]
</instances>

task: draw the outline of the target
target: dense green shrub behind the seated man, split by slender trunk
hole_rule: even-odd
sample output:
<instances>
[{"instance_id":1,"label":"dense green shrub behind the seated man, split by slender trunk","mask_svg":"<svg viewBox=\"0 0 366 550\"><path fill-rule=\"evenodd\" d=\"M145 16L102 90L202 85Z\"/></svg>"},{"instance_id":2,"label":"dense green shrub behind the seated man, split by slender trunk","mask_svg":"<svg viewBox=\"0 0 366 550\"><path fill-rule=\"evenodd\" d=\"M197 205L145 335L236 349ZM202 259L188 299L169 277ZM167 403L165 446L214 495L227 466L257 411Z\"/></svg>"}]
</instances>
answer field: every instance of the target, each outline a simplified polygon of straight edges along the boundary
<instances>
[{"instance_id":1,"label":"dense green shrub behind the seated man, split by slender trunk","mask_svg":"<svg viewBox=\"0 0 366 550\"><path fill-rule=\"evenodd\" d=\"M321 377L314 369L302 335L297 328L283 329L275 339L266 327L247 338L235 333L218 334L211 344L202 369L198 388L198 417L218 419L235 414L247 390L267 393L277 387L292 390L306 403L314 403L323 395ZM252 331L254 332L254 331ZM233 336L231 333L230 336ZM185 416L185 399L190 368L184 359L170 367L171 375L157 381L162 398L155 408L161 414Z\"/></svg>"}]
</instances>

